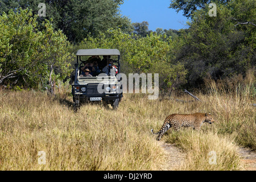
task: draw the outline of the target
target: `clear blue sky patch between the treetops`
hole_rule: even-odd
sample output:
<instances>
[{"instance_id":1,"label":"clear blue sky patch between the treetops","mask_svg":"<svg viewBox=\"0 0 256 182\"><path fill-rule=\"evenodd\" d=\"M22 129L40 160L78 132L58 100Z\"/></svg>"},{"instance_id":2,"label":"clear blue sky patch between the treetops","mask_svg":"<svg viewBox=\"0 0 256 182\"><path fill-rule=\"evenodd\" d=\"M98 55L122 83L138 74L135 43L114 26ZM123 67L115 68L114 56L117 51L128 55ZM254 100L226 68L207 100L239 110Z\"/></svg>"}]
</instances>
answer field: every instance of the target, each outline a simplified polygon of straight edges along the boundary
<instances>
[{"instance_id":1,"label":"clear blue sky patch between the treetops","mask_svg":"<svg viewBox=\"0 0 256 182\"><path fill-rule=\"evenodd\" d=\"M175 29L188 28L187 18L180 11L169 9L170 0L125 0L120 6L121 14L128 16L132 23L147 21L148 29L156 28Z\"/></svg>"}]
</instances>

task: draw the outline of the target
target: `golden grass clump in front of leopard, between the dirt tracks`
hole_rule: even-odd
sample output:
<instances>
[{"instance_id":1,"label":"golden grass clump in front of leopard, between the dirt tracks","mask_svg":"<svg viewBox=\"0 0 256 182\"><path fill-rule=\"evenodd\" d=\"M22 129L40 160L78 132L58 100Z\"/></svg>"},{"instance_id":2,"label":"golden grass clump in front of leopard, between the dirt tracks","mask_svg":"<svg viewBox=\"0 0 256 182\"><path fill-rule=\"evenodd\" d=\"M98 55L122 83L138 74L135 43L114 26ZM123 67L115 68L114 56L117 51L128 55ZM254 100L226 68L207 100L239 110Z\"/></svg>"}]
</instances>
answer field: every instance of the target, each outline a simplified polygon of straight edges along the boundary
<instances>
[{"instance_id":1,"label":"golden grass clump in front of leopard, between the dirt tracks","mask_svg":"<svg viewBox=\"0 0 256 182\"><path fill-rule=\"evenodd\" d=\"M238 148L232 137L217 133L183 130L167 137L167 142L176 143L187 153L179 170L241 170L243 165Z\"/></svg>"}]
</instances>

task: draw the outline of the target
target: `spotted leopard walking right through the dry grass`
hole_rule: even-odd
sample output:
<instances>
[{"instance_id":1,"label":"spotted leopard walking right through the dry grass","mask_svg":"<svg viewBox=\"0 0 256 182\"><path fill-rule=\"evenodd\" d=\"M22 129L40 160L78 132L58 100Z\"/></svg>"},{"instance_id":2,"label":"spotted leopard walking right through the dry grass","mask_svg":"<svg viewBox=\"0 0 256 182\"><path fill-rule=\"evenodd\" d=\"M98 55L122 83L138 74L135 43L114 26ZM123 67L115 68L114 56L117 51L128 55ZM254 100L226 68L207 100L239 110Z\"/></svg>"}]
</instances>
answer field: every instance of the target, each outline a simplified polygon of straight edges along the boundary
<instances>
[{"instance_id":1,"label":"spotted leopard walking right through the dry grass","mask_svg":"<svg viewBox=\"0 0 256 182\"><path fill-rule=\"evenodd\" d=\"M210 113L171 114L166 117L158 133L154 133L153 129L151 129L151 132L158 134L157 139L160 140L171 127L174 127L176 131L179 131L181 127L193 127L194 130L199 131L203 123L212 124L213 122L214 119Z\"/></svg>"}]
</instances>

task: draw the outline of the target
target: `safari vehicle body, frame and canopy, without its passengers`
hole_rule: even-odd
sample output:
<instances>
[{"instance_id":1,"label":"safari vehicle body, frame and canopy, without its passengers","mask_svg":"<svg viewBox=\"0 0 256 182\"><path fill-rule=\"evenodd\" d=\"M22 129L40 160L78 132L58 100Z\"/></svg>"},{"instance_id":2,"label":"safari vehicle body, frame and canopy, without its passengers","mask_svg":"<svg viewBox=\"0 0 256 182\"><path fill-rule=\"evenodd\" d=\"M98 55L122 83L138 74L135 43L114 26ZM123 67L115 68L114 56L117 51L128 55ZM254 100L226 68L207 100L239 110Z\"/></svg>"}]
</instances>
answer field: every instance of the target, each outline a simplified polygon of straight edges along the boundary
<instances>
[{"instance_id":1,"label":"safari vehicle body, frame and canopy, without its passengers","mask_svg":"<svg viewBox=\"0 0 256 182\"><path fill-rule=\"evenodd\" d=\"M79 108L81 102L103 102L105 106L111 104L113 109L117 109L122 99L122 92L120 91L121 80L118 80L117 77L118 73L121 72L119 62L120 52L118 49L79 49L76 56L75 76L73 75L74 81L72 84L75 110ZM115 60L112 61L117 72L114 72L112 76L103 73L102 70L100 70L100 74L92 77L81 75L82 68L88 63L88 60L83 60L86 59L86 56L97 56L100 57L101 60L103 56L114 57ZM102 63L103 62L101 62L101 64ZM108 62L106 62L105 66L108 66L107 64Z\"/></svg>"}]
</instances>

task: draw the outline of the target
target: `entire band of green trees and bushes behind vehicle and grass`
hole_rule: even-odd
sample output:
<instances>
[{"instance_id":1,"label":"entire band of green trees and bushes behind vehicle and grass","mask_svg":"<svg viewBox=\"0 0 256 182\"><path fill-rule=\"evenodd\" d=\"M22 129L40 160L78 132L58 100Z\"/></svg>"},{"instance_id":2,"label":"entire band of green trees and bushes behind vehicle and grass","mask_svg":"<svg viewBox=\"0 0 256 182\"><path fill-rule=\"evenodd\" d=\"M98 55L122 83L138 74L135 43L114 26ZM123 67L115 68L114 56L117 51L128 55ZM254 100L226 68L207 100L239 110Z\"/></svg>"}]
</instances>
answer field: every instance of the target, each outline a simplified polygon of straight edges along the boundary
<instances>
[{"instance_id":1,"label":"entire band of green trees and bushes behind vehicle and grass","mask_svg":"<svg viewBox=\"0 0 256 182\"><path fill-rule=\"evenodd\" d=\"M78 48L117 48L122 72L159 73L164 91L185 83L201 88L208 76L245 76L255 69L254 1L172 0L171 8L191 18L189 28L155 32L146 21L132 24L122 16L123 2L0 0L0 84L36 87L65 77L68 51ZM217 4L216 17L208 15L210 2ZM46 17L33 16L39 3L46 3Z\"/></svg>"}]
</instances>

